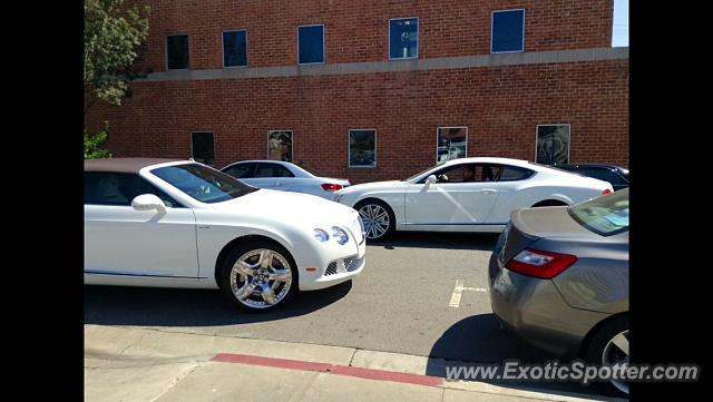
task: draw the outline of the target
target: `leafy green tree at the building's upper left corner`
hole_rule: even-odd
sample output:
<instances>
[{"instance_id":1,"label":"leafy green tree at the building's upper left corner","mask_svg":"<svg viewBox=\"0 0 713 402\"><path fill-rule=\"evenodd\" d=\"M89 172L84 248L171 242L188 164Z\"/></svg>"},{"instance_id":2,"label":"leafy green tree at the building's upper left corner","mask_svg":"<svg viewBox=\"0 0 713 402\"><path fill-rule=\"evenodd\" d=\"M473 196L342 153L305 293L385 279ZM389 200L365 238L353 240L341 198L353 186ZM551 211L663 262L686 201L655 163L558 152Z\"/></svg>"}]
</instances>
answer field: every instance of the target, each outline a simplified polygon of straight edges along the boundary
<instances>
[{"instance_id":1,"label":"leafy green tree at the building's upper left corner","mask_svg":"<svg viewBox=\"0 0 713 402\"><path fill-rule=\"evenodd\" d=\"M85 0L85 114L97 101L120 106L128 81L144 76L134 62L148 36L148 19L124 0ZM148 16L149 9L144 9Z\"/></svg>"}]
</instances>

